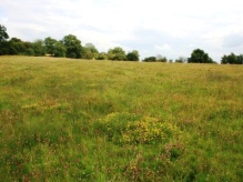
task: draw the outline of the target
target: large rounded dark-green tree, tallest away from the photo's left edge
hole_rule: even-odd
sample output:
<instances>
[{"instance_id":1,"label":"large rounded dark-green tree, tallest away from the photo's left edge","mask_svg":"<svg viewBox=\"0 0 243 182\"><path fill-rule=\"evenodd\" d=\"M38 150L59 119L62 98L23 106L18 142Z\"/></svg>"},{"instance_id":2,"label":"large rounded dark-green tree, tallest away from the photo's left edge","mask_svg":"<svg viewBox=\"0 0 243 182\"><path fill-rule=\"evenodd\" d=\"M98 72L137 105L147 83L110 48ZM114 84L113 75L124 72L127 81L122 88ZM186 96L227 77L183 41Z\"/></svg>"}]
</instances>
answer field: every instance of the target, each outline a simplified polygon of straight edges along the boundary
<instances>
[{"instance_id":1,"label":"large rounded dark-green tree, tallest away from the photo's left edge","mask_svg":"<svg viewBox=\"0 0 243 182\"><path fill-rule=\"evenodd\" d=\"M62 42L67 49L65 55L68 58L81 58L82 46L81 41L73 34L65 36Z\"/></svg>"}]
</instances>

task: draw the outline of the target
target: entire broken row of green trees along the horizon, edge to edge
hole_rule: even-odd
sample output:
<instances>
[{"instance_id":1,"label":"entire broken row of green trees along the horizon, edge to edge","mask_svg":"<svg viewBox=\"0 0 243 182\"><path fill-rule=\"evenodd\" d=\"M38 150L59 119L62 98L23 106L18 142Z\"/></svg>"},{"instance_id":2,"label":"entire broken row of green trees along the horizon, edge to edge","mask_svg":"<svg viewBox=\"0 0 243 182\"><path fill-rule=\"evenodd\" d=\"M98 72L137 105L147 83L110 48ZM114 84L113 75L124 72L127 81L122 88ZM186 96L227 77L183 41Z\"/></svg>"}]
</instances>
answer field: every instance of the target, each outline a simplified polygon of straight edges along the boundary
<instances>
[{"instance_id":1,"label":"entire broken row of green trees along the horizon, edge to edge","mask_svg":"<svg viewBox=\"0 0 243 182\"><path fill-rule=\"evenodd\" d=\"M61 40L55 40L51 37L44 40L36 40L33 42L22 41L18 38L11 38L7 33L7 28L0 24L0 55L51 55L67 57L73 59L95 59L95 60L118 60L118 61L139 61L140 54L138 50L125 52L122 48L115 47L109 49L108 52L99 52L93 43L82 46L81 41L73 34L64 36ZM148 57L143 62L173 62L161 54L156 57ZM201 49L192 51L190 58L180 57L174 60L179 63L216 63L207 53ZM222 64L243 64L243 54L235 55L231 53L223 55Z\"/></svg>"}]
</instances>

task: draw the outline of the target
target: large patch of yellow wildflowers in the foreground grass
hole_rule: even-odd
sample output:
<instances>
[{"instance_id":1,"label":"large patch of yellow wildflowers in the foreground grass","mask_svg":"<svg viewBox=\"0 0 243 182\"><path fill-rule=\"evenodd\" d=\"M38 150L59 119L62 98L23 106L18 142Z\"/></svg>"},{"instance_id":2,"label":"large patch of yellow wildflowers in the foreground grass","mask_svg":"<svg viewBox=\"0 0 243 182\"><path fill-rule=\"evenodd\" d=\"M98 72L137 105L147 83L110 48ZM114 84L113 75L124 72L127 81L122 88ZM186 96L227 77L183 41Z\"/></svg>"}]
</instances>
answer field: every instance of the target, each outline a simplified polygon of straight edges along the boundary
<instances>
[{"instance_id":1,"label":"large patch of yellow wildflowers in the foreground grass","mask_svg":"<svg viewBox=\"0 0 243 182\"><path fill-rule=\"evenodd\" d=\"M99 120L98 127L108 140L120 144L165 143L180 136L176 125L156 118L139 117L125 112L108 114Z\"/></svg>"}]
</instances>

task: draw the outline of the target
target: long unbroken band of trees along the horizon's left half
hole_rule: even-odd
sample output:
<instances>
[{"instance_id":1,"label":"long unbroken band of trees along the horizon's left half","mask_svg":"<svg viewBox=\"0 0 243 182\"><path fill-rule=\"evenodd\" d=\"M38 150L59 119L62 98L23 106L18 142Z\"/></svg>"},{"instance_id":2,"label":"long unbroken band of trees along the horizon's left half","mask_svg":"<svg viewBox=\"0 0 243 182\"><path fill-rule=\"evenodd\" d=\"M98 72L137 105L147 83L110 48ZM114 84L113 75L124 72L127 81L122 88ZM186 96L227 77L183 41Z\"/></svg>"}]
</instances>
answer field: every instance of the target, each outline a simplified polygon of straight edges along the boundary
<instances>
[{"instance_id":1,"label":"long unbroken band of trees along the horizon's left half","mask_svg":"<svg viewBox=\"0 0 243 182\"><path fill-rule=\"evenodd\" d=\"M123 60L139 61L139 51L133 50L128 53L115 47L109 49L108 52L99 52L92 43L87 43L84 47L81 41L73 34L63 37L62 40L45 38L44 40L36 40L33 42L22 41L18 38L10 40L7 29L0 24L0 55L51 55L67 57L73 59L95 59L95 60Z\"/></svg>"}]
</instances>

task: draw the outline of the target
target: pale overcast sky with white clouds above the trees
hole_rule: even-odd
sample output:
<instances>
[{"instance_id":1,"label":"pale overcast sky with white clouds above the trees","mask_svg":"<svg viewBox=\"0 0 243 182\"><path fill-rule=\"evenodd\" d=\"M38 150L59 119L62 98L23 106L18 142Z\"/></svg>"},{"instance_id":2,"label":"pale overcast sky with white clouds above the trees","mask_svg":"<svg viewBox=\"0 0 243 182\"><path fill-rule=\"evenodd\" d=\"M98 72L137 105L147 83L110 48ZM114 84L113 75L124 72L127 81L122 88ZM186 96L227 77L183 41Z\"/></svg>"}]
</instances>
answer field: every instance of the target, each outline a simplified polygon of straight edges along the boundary
<instances>
[{"instance_id":1,"label":"pale overcast sky with white clouds above the trees","mask_svg":"<svg viewBox=\"0 0 243 182\"><path fill-rule=\"evenodd\" d=\"M190 57L200 48L215 61L243 53L241 0L0 0L0 24L11 38L61 40L74 34L99 51L122 47L141 58Z\"/></svg>"}]
</instances>

